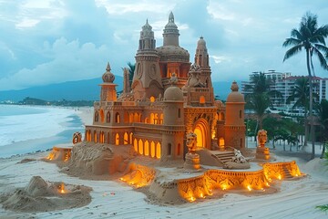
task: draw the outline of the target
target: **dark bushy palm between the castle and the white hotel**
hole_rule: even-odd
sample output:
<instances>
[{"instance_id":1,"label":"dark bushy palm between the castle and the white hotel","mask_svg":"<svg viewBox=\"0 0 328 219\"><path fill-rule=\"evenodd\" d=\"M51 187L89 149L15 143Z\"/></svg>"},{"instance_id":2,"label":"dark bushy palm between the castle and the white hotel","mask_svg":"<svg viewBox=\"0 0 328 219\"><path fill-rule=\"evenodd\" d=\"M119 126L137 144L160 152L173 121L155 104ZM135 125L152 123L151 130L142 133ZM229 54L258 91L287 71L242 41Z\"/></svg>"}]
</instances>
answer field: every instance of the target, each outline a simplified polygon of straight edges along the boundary
<instances>
[{"instance_id":1,"label":"dark bushy palm between the castle and the white hotel","mask_svg":"<svg viewBox=\"0 0 328 219\"><path fill-rule=\"evenodd\" d=\"M277 90L270 89L272 81L271 79L266 78L265 74L262 72L254 73L251 76L250 82L249 85L245 86L245 90L250 91L250 93L245 95L246 108L254 110L257 115L259 129L261 130L266 110L272 106L271 98L281 98L282 94Z\"/></svg>"}]
</instances>

